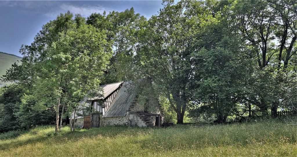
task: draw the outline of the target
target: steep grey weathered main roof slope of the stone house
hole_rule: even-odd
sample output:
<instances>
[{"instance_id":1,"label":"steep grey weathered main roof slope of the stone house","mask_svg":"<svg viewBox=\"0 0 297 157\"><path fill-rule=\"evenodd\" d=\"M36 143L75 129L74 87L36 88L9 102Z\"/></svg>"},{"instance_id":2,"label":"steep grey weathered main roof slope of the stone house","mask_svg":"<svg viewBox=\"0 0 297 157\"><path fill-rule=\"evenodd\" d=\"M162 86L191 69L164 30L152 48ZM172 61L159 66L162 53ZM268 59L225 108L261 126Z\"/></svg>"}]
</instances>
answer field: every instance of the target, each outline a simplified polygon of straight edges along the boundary
<instances>
[{"instance_id":1,"label":"steep grey weathered main roof slope of the stone house","mask_svg":"<svg viewBox=\"0 0 297 157\"><path fill-rule=\"evenodd\" d=\"M125 116L144 80L145 79L124 81L121 89L103 117Z\"/></svg>"}]
</instances>

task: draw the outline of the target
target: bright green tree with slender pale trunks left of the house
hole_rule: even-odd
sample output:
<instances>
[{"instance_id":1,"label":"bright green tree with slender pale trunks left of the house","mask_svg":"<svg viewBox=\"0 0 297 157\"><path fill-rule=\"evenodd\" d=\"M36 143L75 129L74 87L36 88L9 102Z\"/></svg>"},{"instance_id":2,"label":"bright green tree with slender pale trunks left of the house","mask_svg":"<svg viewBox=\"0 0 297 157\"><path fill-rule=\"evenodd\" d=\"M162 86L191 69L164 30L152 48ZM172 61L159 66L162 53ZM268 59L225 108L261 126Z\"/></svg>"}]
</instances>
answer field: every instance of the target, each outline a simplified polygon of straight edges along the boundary
<instances>
[{"instance_id":1,"label":"bright green tree with slender pale trunks left of the house","mask_svg":"<svg viewBox=\"0 0 297 157\"><path fill-rule=\"evenodd\" d=\"M32 45L22 51L24 66L29 69L13 66L6 80L24 83L29 78L31 91L22 102L40 111L55 110L56 131L61 128L60 104L63 103L62 117L66 104L67 112L72 114L86 97L98 96L102 71L111 57L105 31L86 25L80 15L73 19L70 12L45 24ZM28 74L29 71L34 73ZM15 72L20 72L24 81L9 77Z\"/></svg>"}]
</instances>

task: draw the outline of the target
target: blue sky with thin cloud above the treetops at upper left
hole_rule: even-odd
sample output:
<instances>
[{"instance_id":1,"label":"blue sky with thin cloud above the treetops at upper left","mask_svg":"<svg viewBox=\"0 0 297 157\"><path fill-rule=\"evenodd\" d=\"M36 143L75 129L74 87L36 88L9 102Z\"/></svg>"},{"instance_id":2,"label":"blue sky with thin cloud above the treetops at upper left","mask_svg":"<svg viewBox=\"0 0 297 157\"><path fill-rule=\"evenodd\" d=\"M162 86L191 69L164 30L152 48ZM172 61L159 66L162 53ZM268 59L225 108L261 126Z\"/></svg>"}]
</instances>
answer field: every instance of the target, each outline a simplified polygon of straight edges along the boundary
<instances>
[{"instance_id":1,"label":"blue sky with thin cloud above the treetops at upper left","mask_svg":"<svg viewBox=\"0 0 297 157\"><path fill-rule=\"evenodd\" d=\"M42 25L67 10L88 17L93 12L124 11L134 7L146 18L158 14L162 1L0 1L0 51L20 55Z\"/></svg>"}]
</instances>

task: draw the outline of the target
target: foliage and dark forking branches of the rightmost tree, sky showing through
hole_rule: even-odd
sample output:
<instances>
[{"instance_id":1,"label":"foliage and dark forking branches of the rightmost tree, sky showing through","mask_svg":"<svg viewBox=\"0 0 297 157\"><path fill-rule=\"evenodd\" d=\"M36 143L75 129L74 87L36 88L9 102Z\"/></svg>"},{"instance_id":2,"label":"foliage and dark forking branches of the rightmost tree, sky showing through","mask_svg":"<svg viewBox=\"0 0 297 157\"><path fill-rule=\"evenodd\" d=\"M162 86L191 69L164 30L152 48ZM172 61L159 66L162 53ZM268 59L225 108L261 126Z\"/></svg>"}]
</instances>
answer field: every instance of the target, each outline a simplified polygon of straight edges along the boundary
<instances>
[{"instance_id":1,"label":"foliage and dark forking branches of the rightmost tree, sky showing through","mask_svg":"<svg viewBox=\"0 0 297 157\"><path fill-rule=\"evenodd\" d=\"M231 7L230 18L253 50L259 67L251 78L254 83L247 102L257 105L265 115L270 109L271 115L277 116L283 100L292 97L290 91L295 90L289 83L296 74L290 68L296 67L297 32L296 12L291 8L296 8L293 1L262 0L234 1Z\"/></svg>"}]
</instances>

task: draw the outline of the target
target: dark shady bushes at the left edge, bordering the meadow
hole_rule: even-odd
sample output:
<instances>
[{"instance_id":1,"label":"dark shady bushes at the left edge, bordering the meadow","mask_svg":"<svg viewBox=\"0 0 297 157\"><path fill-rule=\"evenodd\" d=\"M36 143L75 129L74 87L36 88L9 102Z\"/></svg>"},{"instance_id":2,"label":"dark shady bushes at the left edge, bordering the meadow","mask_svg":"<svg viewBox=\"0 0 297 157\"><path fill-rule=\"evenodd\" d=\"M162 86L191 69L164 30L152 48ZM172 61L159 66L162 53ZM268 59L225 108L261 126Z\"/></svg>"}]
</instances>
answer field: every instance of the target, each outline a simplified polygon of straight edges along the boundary
<instances>
[{"instance_id":1,"label":"dark shady bushes at the left edge, bordering the meadow","mask_svg":"<svg viewBox=\"0 0 297 157\"><path fill-rule=\"evenodd\" d=\"M53 111L38 112L34 110L34 102L21 102L24 92L15 84L0 88L0 132L54 124Z\"/></svg>"}]
</instances>

